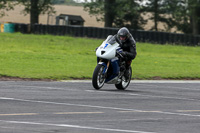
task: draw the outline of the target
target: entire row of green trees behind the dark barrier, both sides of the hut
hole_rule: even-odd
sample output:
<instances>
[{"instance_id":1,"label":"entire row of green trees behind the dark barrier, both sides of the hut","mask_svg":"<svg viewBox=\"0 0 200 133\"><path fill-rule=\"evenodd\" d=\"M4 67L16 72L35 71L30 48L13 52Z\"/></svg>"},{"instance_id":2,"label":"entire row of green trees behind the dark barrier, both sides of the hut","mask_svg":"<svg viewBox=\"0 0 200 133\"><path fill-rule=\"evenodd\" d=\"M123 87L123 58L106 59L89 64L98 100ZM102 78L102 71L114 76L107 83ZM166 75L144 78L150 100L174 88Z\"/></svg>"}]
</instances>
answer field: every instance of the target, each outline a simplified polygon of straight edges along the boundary
<instances>
[{"instance_id":1,"label":"entire row of green trees behind the dark barrier, both sides of the hut","mask_svg":"<svg viewBox=\"0 0 200 133\"><path fill-rule=\"evenodd\" d=\"M0 17L5 11L14 9L16 4L24 5L24 13L30 14L30 24L39 22L40 14L55 13L53 4L73 0L0 0ZM200 34L200 0L85 0L84 10L105 22L105 27L144 29L148 20L154 22L151 30L164 31L176 28L186 34ZM150 13L149 18L144 16Z\"/></svg>"}]
</instances>

